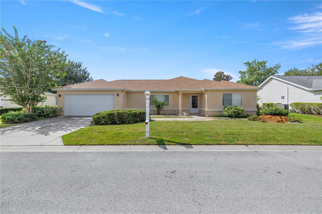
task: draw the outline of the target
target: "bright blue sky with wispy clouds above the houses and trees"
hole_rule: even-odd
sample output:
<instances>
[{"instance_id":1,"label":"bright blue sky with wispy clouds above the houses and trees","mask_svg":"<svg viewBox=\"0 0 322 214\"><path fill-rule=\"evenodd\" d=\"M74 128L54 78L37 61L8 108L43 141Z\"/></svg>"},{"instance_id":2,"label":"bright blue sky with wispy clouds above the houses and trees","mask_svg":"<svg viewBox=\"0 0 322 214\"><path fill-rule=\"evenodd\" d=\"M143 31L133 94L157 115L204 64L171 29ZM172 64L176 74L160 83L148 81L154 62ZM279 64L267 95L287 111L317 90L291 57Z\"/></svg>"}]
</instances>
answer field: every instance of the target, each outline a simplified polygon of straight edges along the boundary
<instances>
[{"instance_id":1,"label":"bright blue sky with wispy clouds above the houses and trees","mask_svg":"<svg viewBox=\"0 0 322 214\"><path fill-rule=\"evenodd\" d=\"M94 79L239 78L322 61L320 1L1 1L1 27L46 40Z\"/></svg>"}]
</instances>

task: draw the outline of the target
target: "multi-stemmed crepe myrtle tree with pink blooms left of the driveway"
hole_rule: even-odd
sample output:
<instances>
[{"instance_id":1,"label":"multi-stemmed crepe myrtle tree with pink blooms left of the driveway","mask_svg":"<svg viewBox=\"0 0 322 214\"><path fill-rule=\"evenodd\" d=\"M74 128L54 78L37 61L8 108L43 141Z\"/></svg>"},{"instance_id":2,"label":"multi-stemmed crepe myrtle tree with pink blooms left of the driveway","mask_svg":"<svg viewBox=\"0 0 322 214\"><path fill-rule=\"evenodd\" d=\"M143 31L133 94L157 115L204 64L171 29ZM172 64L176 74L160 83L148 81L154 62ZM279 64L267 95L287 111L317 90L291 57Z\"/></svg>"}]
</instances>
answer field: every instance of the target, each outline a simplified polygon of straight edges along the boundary
<instances>
[{"instance_id":1,"label":"multi-stemmed crepe myrtle tree with pink blooms left of the driveway","mask_svg":"<svg viewBox=\"0 0 322 214\"><path fill-rule=\"evenodd\" d=\"M0 93L3 97L24 107L25 112L33 112L33 107L46 98L41 96L65 75L64 51L53 50L55 46L45 40L30 40L27 36L14 36L2 28L0 32Z\"/></svg>"}]
</instances>

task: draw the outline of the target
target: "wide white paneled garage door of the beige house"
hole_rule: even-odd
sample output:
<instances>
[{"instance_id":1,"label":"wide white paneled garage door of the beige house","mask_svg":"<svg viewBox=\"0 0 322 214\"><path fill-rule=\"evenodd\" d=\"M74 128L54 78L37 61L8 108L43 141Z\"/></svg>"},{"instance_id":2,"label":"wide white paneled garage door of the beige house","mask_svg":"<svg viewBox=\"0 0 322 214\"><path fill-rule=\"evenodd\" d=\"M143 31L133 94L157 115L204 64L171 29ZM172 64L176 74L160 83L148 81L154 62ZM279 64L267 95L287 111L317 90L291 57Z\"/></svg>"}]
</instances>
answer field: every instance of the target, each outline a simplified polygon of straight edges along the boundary
<instances>
[{"instance_id":1,"label":"wide white paneled garage door of the beige house","mask_svg":"<svg viewBox=\"0 0 322 214\"><path fill-rule=\"evenodd\" d=\"M114 94L65 94L65 115L89 116L114 109Z\"/></svg>"}]
</instances>

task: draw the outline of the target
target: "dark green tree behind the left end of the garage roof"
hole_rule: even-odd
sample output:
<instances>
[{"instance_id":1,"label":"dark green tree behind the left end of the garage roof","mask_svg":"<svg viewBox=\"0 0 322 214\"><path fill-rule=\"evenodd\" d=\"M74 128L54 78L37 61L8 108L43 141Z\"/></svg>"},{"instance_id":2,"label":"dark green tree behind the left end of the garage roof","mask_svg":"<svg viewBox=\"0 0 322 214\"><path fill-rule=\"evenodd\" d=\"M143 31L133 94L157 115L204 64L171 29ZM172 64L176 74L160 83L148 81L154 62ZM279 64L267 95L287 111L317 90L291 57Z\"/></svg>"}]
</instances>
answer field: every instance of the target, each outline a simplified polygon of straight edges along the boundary
<instances>
[{"instance_id":1,"label":"dark green tree behind the left end of the garage roof","mask_svg":"<svg viewBox=\"0 0 322 214\"><path fill-rule=\"evenodd\" d=\"M66 75L58 79L57 85L59 86L84 83L94 80L90 76L90 72L87 70L87 67L83 67L81 62L69 61L68 66L64 67L62 71L66 73Z\"/></svg>"}]
</instances>

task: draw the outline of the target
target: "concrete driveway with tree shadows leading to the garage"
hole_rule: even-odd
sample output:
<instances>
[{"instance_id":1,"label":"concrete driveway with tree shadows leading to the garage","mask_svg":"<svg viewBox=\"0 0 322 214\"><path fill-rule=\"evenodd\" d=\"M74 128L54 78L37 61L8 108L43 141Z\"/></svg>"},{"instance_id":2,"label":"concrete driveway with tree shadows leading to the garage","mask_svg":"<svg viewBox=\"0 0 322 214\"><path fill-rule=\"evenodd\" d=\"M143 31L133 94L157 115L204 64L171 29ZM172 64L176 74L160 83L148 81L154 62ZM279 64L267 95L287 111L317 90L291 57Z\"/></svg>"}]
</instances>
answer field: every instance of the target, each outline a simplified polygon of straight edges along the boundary
<instances>
[{"instance_id":1,"label":"concrete driveway with tree shadows leading to the garage","mask_svg":"<svg viewBox=\"0 0 322 214\"><path fill-rule=\"evenodd\" d=\"M63 145L62 135L90 125L91 117L58 117L0 129L0 146Z\"/></svg>"}]
</instances>

